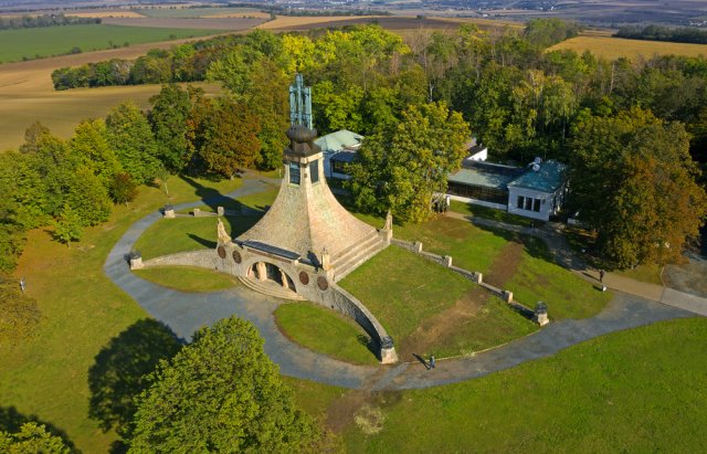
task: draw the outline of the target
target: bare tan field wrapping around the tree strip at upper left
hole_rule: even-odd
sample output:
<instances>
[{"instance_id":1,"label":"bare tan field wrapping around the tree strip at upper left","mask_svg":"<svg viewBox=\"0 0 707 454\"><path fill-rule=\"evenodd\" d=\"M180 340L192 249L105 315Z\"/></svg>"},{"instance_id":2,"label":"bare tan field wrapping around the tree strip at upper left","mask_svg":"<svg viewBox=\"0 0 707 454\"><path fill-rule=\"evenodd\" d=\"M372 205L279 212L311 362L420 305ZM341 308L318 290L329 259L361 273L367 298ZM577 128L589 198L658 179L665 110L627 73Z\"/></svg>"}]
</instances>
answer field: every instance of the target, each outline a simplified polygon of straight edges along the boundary
<instances>
[{"instance_id":1,"label":"bare tan field wrapping around the tree strip at upper left","mask_svg":"<svg viewBox=\"0 0 707 454\"><path fill-rule=\"evenodd\" d=\"M22 144L24 130L36 120L57 136L67 138L78 122L88 117L103 117L110 107L123 101L133 99L138 106L146 108L150 96L160 89L160 85L138 85L55 92L51 78L55 68L108 59L136 59L149 49L166 49L184 41L188 40L0 65L0 152ZM204 87L207 93L220 91L214 84L194 85Z\"/></svg>"}]
</instances>

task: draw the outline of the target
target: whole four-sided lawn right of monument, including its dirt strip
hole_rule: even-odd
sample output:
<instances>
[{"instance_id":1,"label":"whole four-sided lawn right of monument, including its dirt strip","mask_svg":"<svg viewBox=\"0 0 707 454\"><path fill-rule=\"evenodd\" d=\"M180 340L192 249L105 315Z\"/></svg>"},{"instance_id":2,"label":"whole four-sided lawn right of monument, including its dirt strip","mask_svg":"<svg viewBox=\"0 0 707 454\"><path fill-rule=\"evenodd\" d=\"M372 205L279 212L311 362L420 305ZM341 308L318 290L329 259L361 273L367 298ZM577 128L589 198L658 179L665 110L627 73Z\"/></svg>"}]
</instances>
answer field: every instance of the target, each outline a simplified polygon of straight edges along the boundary
<instances>
[{"instance_id":1,"label":"whole four-sided lawn right of monument, including its dirt strip","mask_svg":"<svg viewBox=\"0 0 707 454\"><path fill-rule=\"evenodd\" d=\"M471 281L394 245L339 285L376 315L402 360L468 355L537 329Z\"/></svg>"}]
</instances>

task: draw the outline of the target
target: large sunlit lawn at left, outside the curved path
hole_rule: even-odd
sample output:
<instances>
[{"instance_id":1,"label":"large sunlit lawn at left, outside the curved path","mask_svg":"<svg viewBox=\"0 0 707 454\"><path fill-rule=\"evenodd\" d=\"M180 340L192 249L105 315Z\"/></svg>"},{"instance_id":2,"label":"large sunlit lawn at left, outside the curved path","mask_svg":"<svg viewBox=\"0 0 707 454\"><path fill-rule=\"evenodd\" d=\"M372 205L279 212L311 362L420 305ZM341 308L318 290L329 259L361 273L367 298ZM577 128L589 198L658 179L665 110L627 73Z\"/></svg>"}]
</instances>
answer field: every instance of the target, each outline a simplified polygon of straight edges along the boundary
<instances>
[{"instance_id":1,"label":"large sunlit lawn at left, outside the curved path","mask_svg":"<svg viewBox=\"0 0 707 454\"><path fill-rule=\"evenodd\" d=\"M221 191L239 181L211 183ZM14 407L65 431L86 453L105 453L115 434L103 433L88 419L88 369L112 338L148 315L103 273L108 251L146 213L167 201L197 199L197 188L172 177L171 198L157 188L140 187L129 207L116 207L110 220L87 229L80 243L66 247L44 230L29 232L28 246L15 276L36 298L42 319L34 337L0 349L0 410Z\"/></svg>"}]
</instances>

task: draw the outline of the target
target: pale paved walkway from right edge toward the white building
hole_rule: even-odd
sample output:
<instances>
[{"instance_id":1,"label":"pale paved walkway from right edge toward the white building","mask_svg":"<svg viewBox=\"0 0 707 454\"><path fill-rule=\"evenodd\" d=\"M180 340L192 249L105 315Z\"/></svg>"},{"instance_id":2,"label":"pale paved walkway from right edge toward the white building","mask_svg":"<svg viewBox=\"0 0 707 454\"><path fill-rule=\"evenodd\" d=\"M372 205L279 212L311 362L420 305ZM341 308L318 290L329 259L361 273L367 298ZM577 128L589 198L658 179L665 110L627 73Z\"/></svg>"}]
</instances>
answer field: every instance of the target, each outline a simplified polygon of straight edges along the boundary
<instances>
[{"instance_id":1,"label":"pale paved walkway from right edge toward the white building","mask_svg":"<svg viewBox=\"0 0 707 454\"><path fill-rule=\"evenodd\" d=\"M548 222L541 226L532 228L509 224L490 219L475 218L453 211L447 212L446 215L454 219L469 221L481 228L507 230L539 237L545 241L548 250L558 264L572 271L585 281L589 281L594 285L599 285L599 271L592 270L572 251L559 224ZM614 291L689 310L697 315L707 316L707 298L703 298L697 295L679 292L662 285L640 282L615 273L605 273L604 285Z\"/></svg>"}]
</instances>

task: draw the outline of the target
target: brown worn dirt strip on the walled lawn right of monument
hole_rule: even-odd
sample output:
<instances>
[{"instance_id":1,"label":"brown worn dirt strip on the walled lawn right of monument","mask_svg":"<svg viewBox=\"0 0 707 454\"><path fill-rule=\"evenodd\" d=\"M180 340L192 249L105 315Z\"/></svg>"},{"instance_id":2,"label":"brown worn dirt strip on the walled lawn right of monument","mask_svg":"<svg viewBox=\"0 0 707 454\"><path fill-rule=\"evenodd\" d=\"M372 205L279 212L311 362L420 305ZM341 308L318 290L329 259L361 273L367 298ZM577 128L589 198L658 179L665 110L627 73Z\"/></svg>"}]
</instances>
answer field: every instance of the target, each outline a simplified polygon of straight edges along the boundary
<instances>
[{"instance_id":1,"label":"brown worn dirt strip on the walled lawn right of monument","mask_svg":"<svg viewBox=\"0 0 707 454\"><path fill-rule=\"evenodd\" d=\"M445 344L458 329L476 317L488 298L479 287L472 287L454 306L428 318L400 342L398 355L402 361L413 361L413 355L424 355L434 346Z\"/></svg>"}]
</instances>

